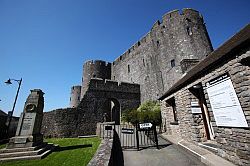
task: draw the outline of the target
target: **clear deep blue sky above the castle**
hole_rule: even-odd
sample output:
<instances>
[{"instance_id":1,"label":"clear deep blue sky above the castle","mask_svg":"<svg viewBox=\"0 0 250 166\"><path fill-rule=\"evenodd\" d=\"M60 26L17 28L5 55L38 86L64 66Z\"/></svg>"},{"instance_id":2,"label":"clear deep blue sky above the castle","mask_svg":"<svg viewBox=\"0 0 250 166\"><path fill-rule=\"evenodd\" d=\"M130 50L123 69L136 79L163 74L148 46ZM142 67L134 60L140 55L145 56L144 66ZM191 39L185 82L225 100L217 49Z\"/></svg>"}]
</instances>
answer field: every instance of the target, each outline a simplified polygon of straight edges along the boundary
<instances>
[{"instance_id":1,"label":"clear deep blue sky above the castle","mask_svg":"<svg viewBox=\"0 0 250 166\"><path fill-rule=\"evenodd\" d=\"M214 48L250 21L249 0L0 0L0 109L15 116L30 89L45 92L44 111L69 106L70 88L81 84L82 64L112 62L174 9L203 15Z\"/></svg>"}]
</instances>

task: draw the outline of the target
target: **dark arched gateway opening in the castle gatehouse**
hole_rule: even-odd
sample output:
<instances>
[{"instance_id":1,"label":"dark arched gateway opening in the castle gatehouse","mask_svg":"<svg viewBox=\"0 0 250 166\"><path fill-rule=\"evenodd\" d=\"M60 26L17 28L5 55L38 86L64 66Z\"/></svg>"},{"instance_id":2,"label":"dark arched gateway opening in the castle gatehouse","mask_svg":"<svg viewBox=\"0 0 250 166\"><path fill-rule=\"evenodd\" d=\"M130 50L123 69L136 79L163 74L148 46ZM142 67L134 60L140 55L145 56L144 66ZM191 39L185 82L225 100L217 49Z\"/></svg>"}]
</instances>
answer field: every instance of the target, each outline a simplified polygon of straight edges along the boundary
<instances>
[{"instance_id":1,"label":"dark arched gateway opening in the castle gatehouse","mask_svg":"<svg viewBox=\"0 0 250 166\"><path fill-rule=\"evenodd\" d=\"M104 102L103 117L106 122L120 124L121 106L117 99L109 98Z\"/></svg>"}]
</instances>

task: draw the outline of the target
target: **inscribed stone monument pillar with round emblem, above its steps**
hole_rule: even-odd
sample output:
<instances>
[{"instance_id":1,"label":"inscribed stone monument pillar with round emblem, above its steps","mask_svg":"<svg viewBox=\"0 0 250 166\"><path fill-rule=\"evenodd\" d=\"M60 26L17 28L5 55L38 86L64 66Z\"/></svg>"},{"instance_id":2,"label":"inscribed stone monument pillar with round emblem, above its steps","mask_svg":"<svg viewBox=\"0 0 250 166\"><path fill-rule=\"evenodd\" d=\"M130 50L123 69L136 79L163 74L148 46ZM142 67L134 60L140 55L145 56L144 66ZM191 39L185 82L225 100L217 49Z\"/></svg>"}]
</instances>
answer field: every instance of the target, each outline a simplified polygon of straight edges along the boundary
<instances>
[{"instance_id":1,"label":"inscribed stone monument pillar with round emblem, above its steps","mask_svg":"<svg viewBox=\"0 0 250 166\"><path fill-rule=\"evenodd\" d=\"M18 122L16 136L10 139L7 148L32 147L43 143L43 136L40 133L43 119L43 94L40 89L31 90Z\"/></svg>"}]
</instances>

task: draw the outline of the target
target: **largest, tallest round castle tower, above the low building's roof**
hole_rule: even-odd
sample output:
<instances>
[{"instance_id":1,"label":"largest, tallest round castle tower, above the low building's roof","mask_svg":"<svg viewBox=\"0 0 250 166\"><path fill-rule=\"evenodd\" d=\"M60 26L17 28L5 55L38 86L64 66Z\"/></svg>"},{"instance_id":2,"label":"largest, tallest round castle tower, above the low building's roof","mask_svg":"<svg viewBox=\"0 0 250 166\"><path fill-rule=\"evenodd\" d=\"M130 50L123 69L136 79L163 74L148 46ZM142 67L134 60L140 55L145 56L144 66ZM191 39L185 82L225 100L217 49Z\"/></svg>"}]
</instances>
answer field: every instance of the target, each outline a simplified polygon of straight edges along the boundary
<instances>
[{"instance_id":1,"label":"largest, tallest round castle tower, above the low building's roof","mask_svg":"<svg viewBox=\"0 0 250 166\"><path fill-rule=\"evenodd\" d=\"M163 25L176 60L203 59L213 51L202 15L190 8L163 16Z\"/></svg>"}]
</instances>

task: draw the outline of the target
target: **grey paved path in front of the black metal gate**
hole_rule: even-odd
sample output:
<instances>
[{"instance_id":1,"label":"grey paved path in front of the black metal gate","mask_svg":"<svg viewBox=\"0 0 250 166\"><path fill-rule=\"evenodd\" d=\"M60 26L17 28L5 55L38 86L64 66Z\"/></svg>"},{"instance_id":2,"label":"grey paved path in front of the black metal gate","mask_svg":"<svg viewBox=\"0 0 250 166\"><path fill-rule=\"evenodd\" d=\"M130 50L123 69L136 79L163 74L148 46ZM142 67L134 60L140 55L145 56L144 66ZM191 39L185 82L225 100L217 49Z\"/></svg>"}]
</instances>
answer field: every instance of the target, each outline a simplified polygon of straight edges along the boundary
<instances>
[{"instance_id":1,"label":"grey paved path in front of the black metal gate","mask_svg":"<svg viewBox=\"0 0 250 166\"><path fill-rule=\"evenodd\" d=\"M125 166L204 166L196 158L176 149L159 137L160 149L155 147L136 150L124 150Z\"/></svg>"}]
</instances>

